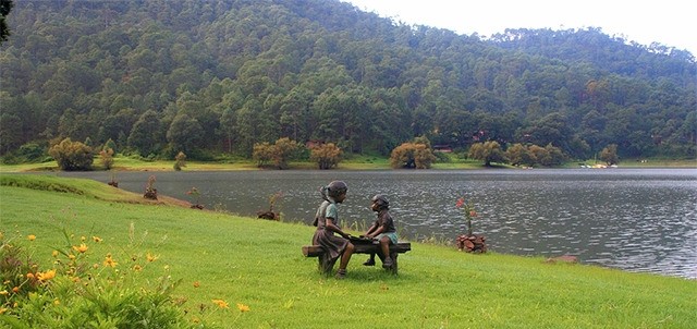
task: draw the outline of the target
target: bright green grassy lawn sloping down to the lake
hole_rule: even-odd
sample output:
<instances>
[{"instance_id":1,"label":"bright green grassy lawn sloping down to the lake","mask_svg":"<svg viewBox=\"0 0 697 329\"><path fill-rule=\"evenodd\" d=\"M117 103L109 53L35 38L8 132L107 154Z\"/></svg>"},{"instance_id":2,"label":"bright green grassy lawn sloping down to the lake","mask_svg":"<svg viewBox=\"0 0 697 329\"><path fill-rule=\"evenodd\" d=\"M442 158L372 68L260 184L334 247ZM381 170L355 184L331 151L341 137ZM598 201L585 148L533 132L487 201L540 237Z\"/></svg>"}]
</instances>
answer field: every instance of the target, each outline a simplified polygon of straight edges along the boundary
<instances>
[{"instance_id":1,"label":"bright green grassy lawn sloping down to the lake","mask_svg":"<svg viewBox=\"0 0 697 329\"><path fill-rule=\"evenodd\" d=\"M221 298L229 309L208 320L240 328L694 328L697 281L600 267L545 264L539 257L412 243L400 275L360 266L345 280L326 278L304 258L314 228L200 211L169 202L138 204L106 184L76 179L2 174L0 230L30 245L50 266L62 230L88 242L89 256L158 256L140 280L181 280L175 298L193 318ZM9 186L30 186L33 188ZM63 186L68 193L45 191ZM80 191L80 194L73 191ZM123 195L122 195L123 194ZM123 200L127 203L124 203ZM35 241L25 236L34 234ZM99 260L97 260L99 261ZM198 288L195 287L198 282ZM240 313L242 303L250 310Z\"/></svg>"}]
</instances>

